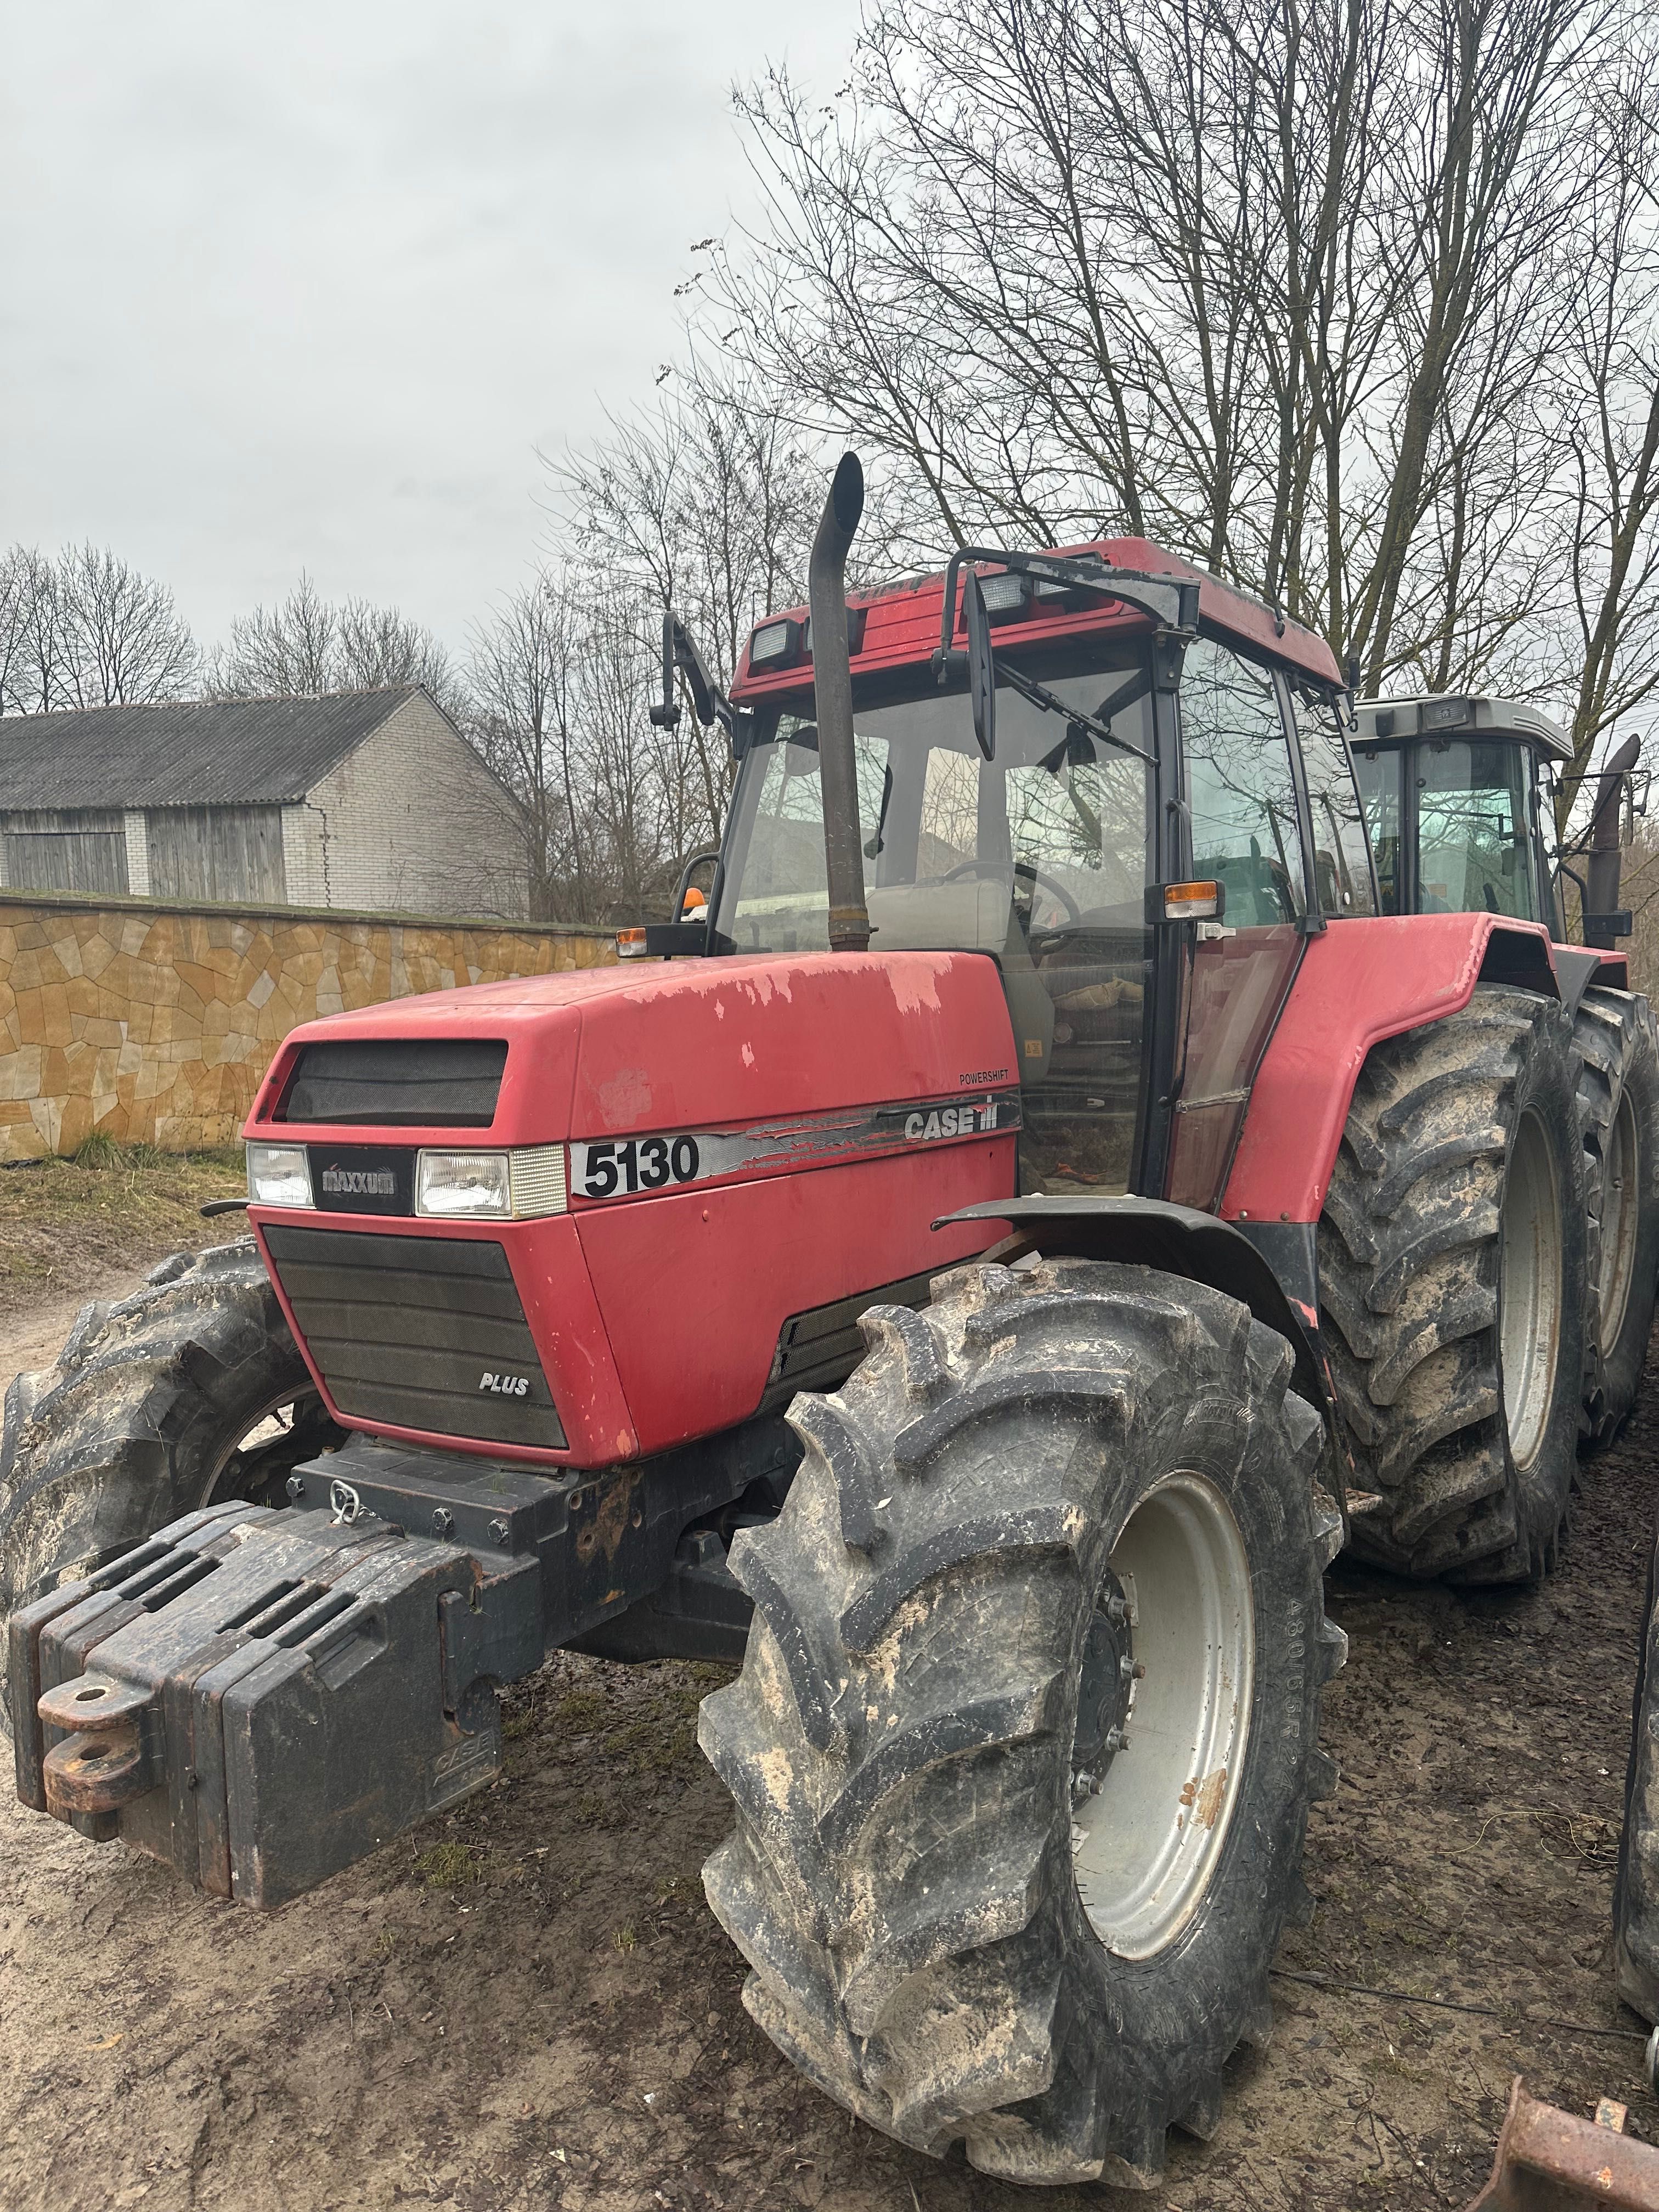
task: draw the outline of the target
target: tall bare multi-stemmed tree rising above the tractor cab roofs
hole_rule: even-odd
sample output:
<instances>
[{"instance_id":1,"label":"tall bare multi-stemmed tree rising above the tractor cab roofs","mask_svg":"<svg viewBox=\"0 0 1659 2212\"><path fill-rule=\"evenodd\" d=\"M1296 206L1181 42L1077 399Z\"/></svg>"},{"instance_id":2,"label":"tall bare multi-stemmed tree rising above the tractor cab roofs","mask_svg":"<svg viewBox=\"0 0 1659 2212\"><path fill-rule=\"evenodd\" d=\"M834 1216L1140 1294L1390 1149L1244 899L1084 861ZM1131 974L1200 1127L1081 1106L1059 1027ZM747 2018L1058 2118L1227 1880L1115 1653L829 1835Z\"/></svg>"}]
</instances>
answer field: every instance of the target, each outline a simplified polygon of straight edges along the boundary
<instances>
[{"instance_id":1,"label":"tall bare multi-stemmed tree rising above the tractor cab roofs","mask_svg":"<svg viewBox=\"0 0 1659 2212\"><path fill-rule=\"evenodd\" d=\"M889 0L834 106L739 97L708 285L776 405L940 524L1150 533L1475 681L1559 588L1537 392L1628 0ZM931 546L929 546L931 551Z\"/></svg>"}]
</instances>

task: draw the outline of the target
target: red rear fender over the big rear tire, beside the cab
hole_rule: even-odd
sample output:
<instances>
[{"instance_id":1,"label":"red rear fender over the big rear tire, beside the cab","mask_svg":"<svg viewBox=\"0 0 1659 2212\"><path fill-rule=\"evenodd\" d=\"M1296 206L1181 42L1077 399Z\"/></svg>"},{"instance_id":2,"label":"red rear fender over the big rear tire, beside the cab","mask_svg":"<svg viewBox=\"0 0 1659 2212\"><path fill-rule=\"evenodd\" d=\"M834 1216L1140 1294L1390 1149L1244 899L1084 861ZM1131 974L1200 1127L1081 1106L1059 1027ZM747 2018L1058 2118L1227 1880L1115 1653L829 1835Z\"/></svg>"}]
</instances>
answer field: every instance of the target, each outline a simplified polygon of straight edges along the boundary
<instances>
[{"instance_id":1,"label":"red rear fender over the big rear tire, beside the cab","mask_svg":"<svg viewBox=\"0 0 1659 2212\"><path fill-rule=\"evenodd\" d=\"M1310 938L1250 1091L1221 1214L1241 1230L1318 1221L1354 1084L1385 1037L1460 1013L1478 982L1573 1011L1599 973L1595 956L1493 914L1385 914Z\"/></svg>"}]
</instances>

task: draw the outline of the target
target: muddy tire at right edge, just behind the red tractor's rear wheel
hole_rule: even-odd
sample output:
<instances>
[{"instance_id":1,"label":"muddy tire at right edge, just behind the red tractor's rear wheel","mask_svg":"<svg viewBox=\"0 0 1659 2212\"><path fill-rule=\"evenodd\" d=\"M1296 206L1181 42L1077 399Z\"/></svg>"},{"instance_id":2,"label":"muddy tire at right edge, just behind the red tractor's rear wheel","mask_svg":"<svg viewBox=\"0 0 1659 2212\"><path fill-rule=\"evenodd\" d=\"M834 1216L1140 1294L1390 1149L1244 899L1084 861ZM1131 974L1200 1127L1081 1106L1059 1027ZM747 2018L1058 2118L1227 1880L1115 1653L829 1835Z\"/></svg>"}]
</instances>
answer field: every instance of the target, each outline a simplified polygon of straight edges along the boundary
<instances>
[{"instance_id":1,"label":"muddy tire at right edge, just behind the red tractor's rear wheel","mask_svg":"<svg viewBox=\"0 0 1659 2212\"><path fill-rule=\"evenodd\" d=\"M1573 1048L1590 1223L1582 1427L1599 1447L1637 1402L1659 1283L1659 1042L1648 1000L1586 991Z\"/></svg>"}]
</instances>

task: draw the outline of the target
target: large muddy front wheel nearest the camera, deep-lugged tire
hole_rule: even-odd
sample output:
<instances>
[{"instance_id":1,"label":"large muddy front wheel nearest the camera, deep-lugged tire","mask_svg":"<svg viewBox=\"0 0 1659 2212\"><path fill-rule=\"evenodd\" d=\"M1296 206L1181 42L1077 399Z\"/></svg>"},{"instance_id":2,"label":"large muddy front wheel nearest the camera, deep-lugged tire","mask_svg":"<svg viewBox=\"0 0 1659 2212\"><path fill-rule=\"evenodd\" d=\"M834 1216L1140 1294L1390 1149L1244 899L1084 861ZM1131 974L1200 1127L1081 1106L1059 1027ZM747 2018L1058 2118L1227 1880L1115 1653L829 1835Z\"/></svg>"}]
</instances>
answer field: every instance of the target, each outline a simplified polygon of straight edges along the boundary
<instances>
[{"instance_id":1,"label":"large muddy front wheel nearest the camera, deep-lugged tire","mask_svg":"<svg viewBox=\"0 0 1659 2212\"><path fill-rule=\"evenodd\" d=\"M1152 2185L1166 2130L1212 2132L1223 2062L1270 2033L1307 1801L1336 1781L1316 1750L1345 1650L1321 1610L1340 1540L1321 1422L1283 1338L1146 1267L975 1263L927 1312L860 1325L865 1365L794 1400L783 1515L732 1553L754 1624L701 1710L737 1801L710 1905L754 2020L872 2126L964 2141L1011 2181ZM1172 1542L1179 1566L1194 1502L1243 1571L1212 1577L1214 1637L1177 1657L1219 1666L1232 1590L1252 1683L1217 1672L1177 1741L1192 1712L1170 1705L1170 1559L1159 1579L1150 1553ZM1113 1717L1128 1745L1104 1750ZM1161 1876L1137 1887L1150 1805ZM1095 1911L1133 1922L1121 1949L1079 1893L1079 1834Z\"/></svg>"}]
</instances>

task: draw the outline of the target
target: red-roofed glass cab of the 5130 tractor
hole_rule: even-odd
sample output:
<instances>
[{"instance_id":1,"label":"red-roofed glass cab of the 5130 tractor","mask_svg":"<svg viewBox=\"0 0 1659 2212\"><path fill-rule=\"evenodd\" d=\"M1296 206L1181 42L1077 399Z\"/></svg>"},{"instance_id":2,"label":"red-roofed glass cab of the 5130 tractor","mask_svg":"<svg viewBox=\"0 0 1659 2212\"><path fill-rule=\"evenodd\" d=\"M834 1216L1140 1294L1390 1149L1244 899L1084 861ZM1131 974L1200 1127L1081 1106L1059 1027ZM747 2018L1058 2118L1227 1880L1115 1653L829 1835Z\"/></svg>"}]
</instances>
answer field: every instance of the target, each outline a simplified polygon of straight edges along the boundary
<instances>
[{"instance_id":1,"label":"red-roofed glass cab of the 5130 tractor","mask_svg":"<svg viewBox=\"0 0 1659 2212\"><path fill-rule=\"evenodd\" d=\"M639 951L836 945L812 630L754 630L706 920ZM995 962L1024 1192L1214 1206L1310 936L1374 911L1329 650L1144 540L969 549L847 630L856 942Z\"/></svg>"}]
</instances>

